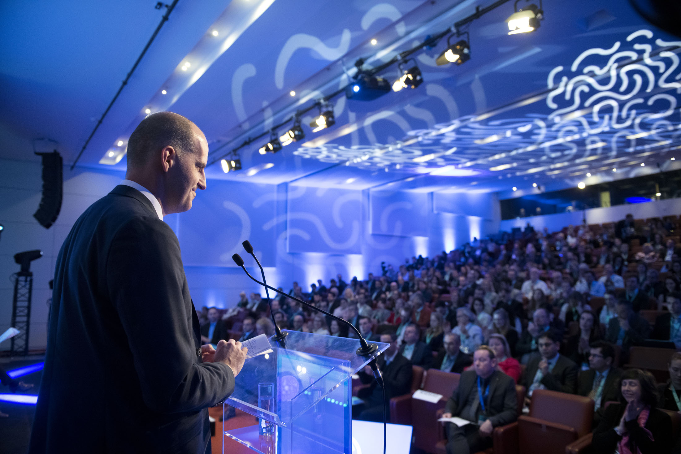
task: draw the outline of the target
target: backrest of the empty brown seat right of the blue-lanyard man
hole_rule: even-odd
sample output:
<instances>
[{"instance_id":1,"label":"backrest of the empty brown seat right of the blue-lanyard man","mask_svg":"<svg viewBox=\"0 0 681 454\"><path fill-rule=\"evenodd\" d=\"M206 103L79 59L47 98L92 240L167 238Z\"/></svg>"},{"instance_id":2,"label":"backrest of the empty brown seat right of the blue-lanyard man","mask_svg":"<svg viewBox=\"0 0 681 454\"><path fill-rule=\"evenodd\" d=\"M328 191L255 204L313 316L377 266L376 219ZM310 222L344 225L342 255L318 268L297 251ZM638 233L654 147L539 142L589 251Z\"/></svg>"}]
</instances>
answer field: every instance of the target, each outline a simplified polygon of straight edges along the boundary
<instances>
[{"instance_id":1,"label":"backrest of the empty brown seat right of the blue-lanyard man","mask_svg":"<svg viewBox=\"0 0 681 454\"><path fill-rule=\"evenodd\" d=\"M591 432L594 401L583 395L537 389L530 402L530 417L572 427L581 437Z\"/></svg>"}]
</instances>

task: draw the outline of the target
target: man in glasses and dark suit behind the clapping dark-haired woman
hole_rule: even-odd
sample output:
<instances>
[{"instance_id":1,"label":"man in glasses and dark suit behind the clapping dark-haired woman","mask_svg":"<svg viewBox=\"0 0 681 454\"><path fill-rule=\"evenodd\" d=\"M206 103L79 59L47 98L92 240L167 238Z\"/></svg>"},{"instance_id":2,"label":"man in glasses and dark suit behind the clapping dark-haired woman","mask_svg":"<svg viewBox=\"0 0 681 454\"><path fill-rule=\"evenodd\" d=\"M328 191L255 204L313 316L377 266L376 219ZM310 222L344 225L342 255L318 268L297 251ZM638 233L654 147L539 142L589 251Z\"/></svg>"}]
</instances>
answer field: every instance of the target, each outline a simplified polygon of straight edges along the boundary
<instances>
[{"instance_id":1,"label":"man in glasses and dark suit behind the clapping dark-haired woman","mask_svg":"<svg viewBox=\"0 0 681 454\"><path fill-rule=\"evenodd\" d=\"M580 371L577 378L577 394L586 395L595 402L593 427L601 422L605 402L617 400L620 393L622 370L612 366L614 360L612 344L597 340L590 345L588 370Z\"/></svg>"}]
</instances>

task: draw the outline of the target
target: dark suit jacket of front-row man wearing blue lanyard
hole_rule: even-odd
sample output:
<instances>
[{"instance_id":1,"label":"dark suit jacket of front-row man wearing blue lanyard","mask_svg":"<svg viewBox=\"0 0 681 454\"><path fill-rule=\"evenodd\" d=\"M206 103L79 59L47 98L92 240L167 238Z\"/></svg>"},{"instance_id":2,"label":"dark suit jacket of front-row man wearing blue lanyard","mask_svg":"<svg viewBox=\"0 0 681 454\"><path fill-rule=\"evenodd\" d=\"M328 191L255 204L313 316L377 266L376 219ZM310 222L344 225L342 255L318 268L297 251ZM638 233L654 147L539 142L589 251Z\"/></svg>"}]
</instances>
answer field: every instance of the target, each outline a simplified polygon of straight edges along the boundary
<instances>
[{"instance_id":1,"label":"dark suit jacket of front-row man wearing blue lanyard","mask_svg":"<svg viewBox=\"0 0 681 454\"><path fill-rule=\"evenodd\" d=\"M460 416L471 393L477 394L477 374L473 370L462 372L459 386L445 404L445 413ZM516 382L500 370L490 376L490 394L486 402L492 427L510 424L518 419Z\"/></svg>"}]
</instances>

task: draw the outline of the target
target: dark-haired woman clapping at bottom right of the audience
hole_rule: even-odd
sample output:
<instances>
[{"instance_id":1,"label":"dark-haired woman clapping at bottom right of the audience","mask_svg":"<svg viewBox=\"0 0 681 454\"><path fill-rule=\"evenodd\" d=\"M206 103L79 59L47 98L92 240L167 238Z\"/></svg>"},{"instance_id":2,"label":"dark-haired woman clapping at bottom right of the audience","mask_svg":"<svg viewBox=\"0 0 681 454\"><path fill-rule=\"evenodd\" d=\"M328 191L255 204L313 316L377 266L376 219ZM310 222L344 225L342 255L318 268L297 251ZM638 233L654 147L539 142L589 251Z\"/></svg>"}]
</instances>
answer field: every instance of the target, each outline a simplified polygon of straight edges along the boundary
<instances>
[{"instance_id":1,"label":"dark-haired woman clapping at bottom right of the audience","mask_svg":"<svg viewBox=\"0 0 681 454\"><path fill-rule=\"evenodd\" d=\"M671 418L658 410L655 379L629 369L620 377L620 402L605 408L591 442L594 453L668 454Z\"/></svg>"}]
</instances>

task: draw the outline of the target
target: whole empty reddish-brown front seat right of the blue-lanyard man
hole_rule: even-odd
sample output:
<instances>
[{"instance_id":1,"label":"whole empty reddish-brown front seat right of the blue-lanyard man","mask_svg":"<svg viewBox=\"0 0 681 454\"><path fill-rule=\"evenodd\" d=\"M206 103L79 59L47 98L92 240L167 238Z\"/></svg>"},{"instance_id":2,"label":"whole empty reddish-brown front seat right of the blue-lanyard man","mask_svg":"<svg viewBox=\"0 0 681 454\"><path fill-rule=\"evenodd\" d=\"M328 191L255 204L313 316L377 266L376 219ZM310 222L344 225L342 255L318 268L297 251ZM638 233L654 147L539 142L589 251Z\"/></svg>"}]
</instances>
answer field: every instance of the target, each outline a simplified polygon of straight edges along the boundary
<instances>
[{"instance_id":1,"label":"whole empty reddish-brown front seat right of the blue-lanyard man","mask_svg":"<svg viewBox=\"0 0 681 454\"><path fill-rule=\"evenodd\" d=\"M588 397L537 389L528 415L494 429L494 454L563 454L590 432L593 411Z\"/></svg>"}]
</instances>

